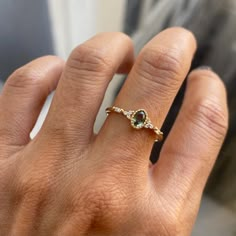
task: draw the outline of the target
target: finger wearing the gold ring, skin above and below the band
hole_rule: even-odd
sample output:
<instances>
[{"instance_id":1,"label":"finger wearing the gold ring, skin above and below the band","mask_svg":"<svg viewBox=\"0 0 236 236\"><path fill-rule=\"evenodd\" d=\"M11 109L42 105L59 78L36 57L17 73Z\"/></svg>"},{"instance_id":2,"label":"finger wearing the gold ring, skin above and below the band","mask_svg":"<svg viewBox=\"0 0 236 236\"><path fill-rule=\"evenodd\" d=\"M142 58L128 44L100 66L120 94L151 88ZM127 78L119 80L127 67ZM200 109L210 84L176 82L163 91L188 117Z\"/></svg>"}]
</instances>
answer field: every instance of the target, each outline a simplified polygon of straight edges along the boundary
<instances>
[{"instance_id":1,"label":"finger wearing the gold ring, skin above and below the band","mask_svg":"<svg viewBox=\"0 0 236 236\"><path fill-rule=\"evenodd\" d=\"M140 52L115 106L125 110L143 108L152 123L160 128L189 71L195 49L196 41L189 31L172 28L161 32ZM119 159L135 162L144 160L147 165L142 162L141 166L148 166L155 139L151 131L137 131L122 115L111 114L99 135L98 146L124 149L129 157L121 155Z\"/></svg>"}]
</instances>

